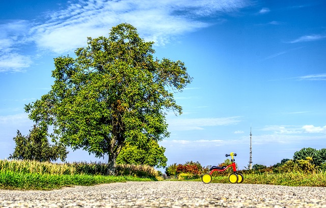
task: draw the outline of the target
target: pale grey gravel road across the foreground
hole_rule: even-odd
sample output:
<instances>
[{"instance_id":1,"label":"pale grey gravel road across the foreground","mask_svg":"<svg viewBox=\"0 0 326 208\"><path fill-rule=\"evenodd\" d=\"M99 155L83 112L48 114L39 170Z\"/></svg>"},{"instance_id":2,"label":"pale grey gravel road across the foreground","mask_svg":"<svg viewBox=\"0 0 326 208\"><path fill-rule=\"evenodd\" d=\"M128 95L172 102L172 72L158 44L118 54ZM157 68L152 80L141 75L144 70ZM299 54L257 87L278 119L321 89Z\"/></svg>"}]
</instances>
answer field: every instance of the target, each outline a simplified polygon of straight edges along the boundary
<instances>
[{"instance_id":1,"label":"pale grey gravel road across the foreground","mask_svg":"<svg viewBox=\"0 0 326 208\"><path fill-rule=\"evenodd\" d=\"M53 191L0 190L0 207L326 208L326 187L127 182Z\"/></svg>"}]
</instances>

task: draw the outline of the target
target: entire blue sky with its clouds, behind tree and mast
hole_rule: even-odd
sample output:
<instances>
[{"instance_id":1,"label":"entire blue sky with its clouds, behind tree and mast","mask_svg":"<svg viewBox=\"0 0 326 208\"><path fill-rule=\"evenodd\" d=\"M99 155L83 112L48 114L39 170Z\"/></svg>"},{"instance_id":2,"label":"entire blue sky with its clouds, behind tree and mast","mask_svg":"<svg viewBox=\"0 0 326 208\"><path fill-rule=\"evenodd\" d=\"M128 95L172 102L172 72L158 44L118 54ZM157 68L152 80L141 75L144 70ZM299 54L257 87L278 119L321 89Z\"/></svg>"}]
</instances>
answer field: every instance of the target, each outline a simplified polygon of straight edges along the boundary
<instances>
[{"instance_id":1,"label":"entire blue sky with its clouds, behind tree and mast","mask_svg":"<svg viewBox=\"0 0 326 208\"><path fill-rule=\"evenodd\" d=\"M217 165L235 152L242 169L251 127L253 164L326 148L325 8L322 0L1 1L0 159L17 129L33 126L23 107L50 90L53 58L122 22L194 78L175 94L183 114L167 115L168 164ZM67 160L103 159L71 151Z\"/></svg>"}]
</instances>

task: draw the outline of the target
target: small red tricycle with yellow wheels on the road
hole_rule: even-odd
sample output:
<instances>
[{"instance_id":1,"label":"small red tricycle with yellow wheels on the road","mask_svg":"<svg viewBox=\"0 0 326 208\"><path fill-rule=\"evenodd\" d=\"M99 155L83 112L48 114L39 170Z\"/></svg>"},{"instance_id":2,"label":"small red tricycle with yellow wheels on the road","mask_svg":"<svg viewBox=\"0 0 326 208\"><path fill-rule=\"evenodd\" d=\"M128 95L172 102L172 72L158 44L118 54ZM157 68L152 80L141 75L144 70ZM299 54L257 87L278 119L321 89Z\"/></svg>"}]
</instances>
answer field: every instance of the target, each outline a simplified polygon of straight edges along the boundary
<instances>
[{"instance_id":1,"label":"small red tricycle with yellow wheels on the road","mask_svg":"<svg viewBox=\"0 0 326 208\"><path fill-rule=\"evenodd\" d=\"M231 184L235 184L235 183L242 183L243 182L243 175L241 173L237 173L236 172L236 167L235 167L235 160L234 160L234 156L236 156L236 153L230 153L230 155L226 154L225 157L229 157L231 156L231 165L228 166L222 166L222 167L217 167L217 166L212 166L209 169L209 173L203 174L202 175L202 182L204 182L205 184L209 184L212 181L212 173L214 171L225 171L226 169L228 169L229 167L233 167L233 173L231 173L229 175L229 182Z\"/></svg>"}]
</instances>

